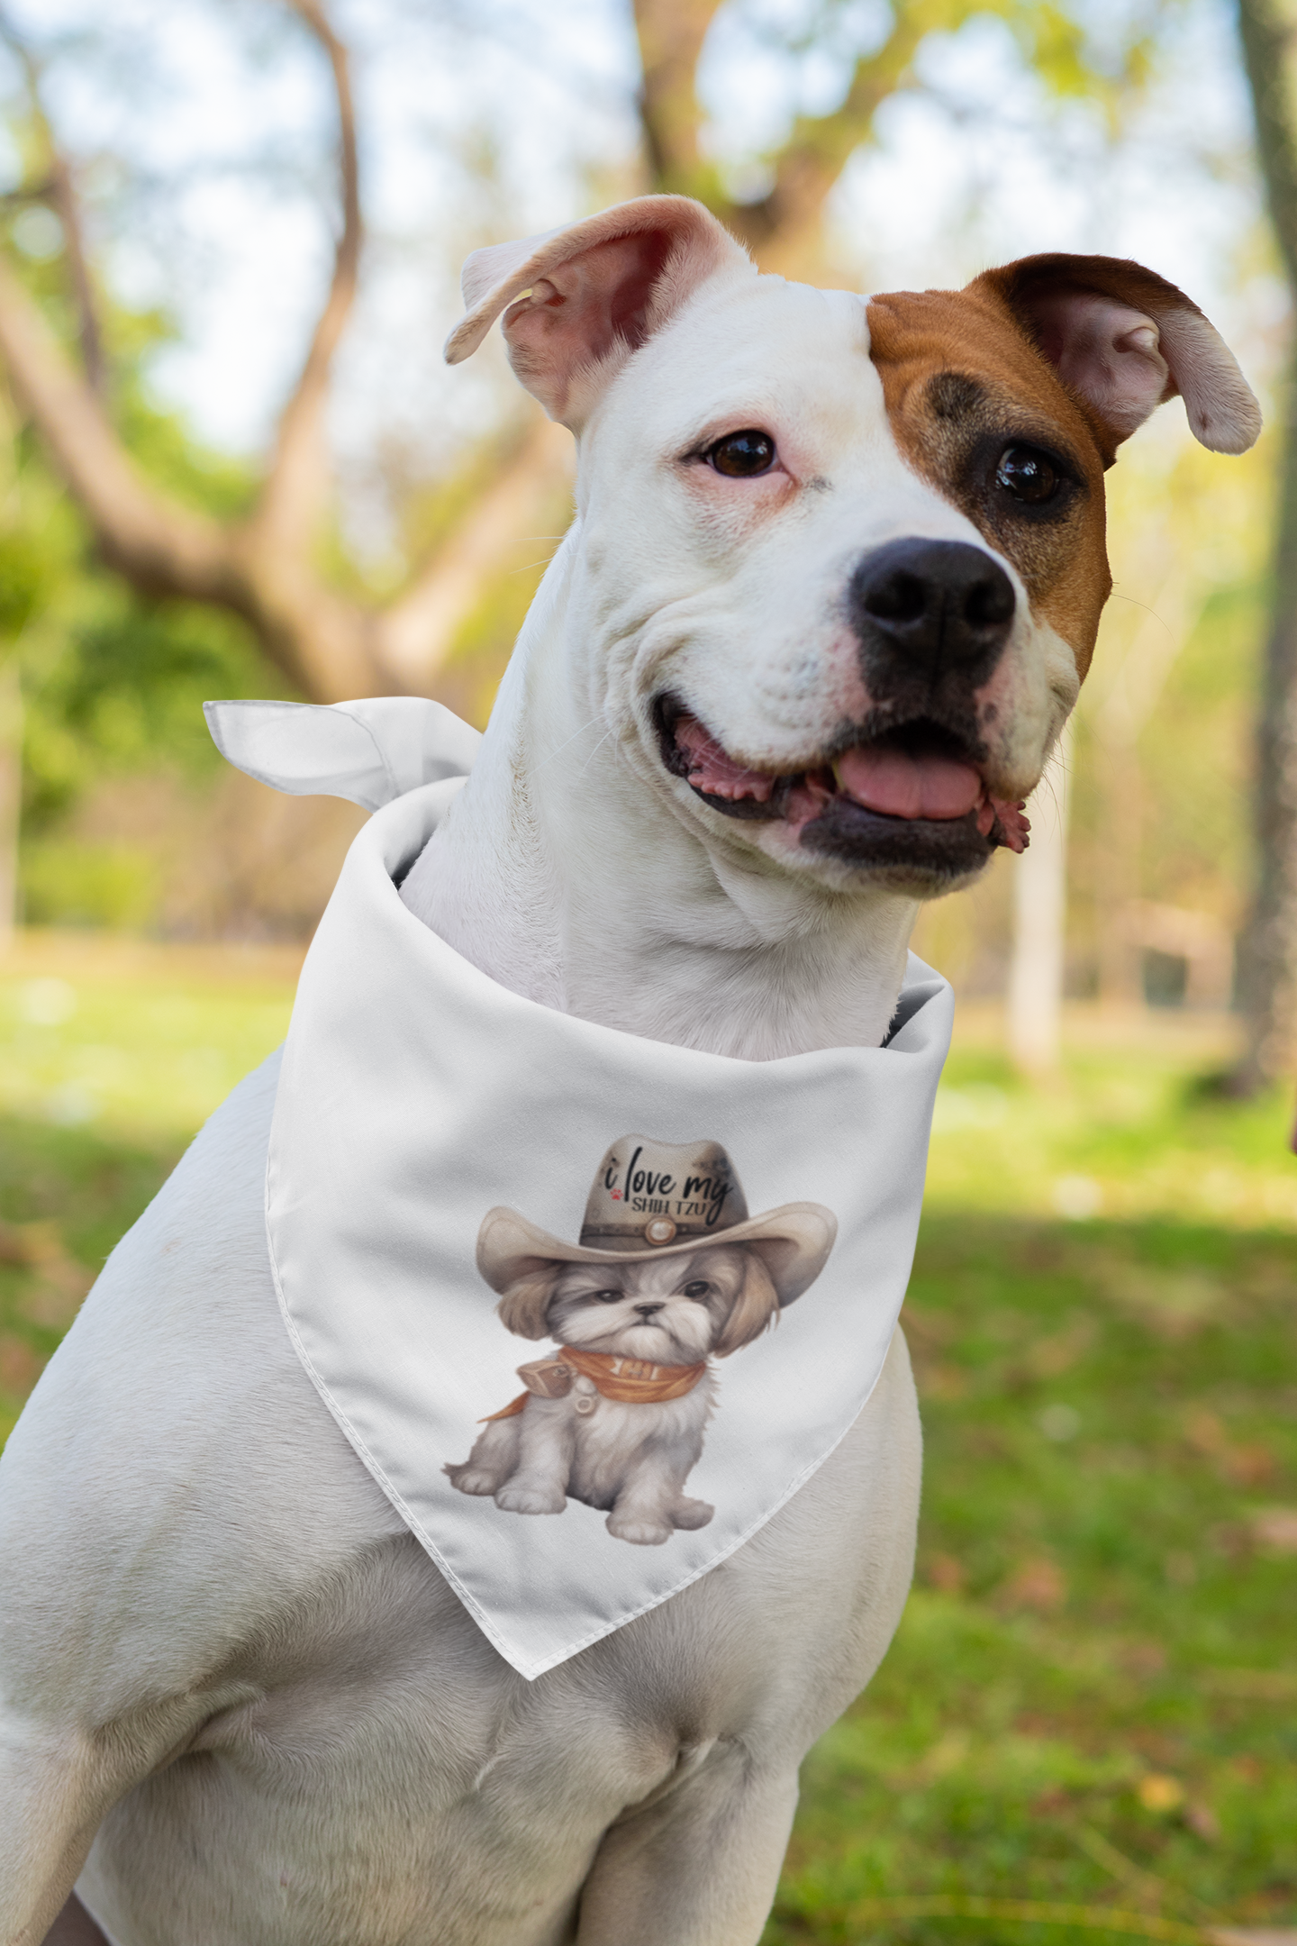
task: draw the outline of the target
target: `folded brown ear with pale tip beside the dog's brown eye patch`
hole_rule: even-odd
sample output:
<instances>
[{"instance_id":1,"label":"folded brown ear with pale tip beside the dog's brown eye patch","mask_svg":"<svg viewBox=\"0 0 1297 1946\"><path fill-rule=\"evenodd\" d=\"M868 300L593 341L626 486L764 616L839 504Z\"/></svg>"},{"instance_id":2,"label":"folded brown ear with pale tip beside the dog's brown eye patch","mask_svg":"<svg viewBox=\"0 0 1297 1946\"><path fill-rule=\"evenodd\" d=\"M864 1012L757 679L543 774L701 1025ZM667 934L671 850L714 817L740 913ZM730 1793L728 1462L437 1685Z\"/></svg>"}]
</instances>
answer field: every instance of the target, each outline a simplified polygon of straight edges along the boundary
<instances>
[{"instance_id":1,"label":"folded brown ear with pale tip beside the dog's brown eye patch","mask_svg":"<svg viewBox=\"0 0 1297 1946\"><path fill-rule=\"evenodd\" d=\"M1233 352L1155 270L1120 257L1023 257L974 278L968 290L978 288L1007 302L1112 450L1176 393L1213 453L1244 453L1256 440L1260 407Z\"/></svg>"}]
</instances>

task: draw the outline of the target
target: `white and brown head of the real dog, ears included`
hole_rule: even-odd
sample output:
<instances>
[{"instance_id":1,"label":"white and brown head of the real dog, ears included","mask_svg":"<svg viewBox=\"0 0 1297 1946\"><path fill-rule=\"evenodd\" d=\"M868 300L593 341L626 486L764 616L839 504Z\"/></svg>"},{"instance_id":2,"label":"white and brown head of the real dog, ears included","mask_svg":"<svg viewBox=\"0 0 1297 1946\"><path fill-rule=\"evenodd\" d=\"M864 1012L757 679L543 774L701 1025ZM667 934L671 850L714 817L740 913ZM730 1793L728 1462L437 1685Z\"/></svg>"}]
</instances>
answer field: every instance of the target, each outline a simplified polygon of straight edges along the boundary
<instances>
[{"instance_id":1,"label":"white and brown head of the real dog, ears included","mask_svg":"<svg viewBox=\"0 0 1297 1946\"><path fill-rule=\"evenodd\" d=\"M1110 257L863 300L644 197L476 251L465 298L447 358L504 311L579 440L587 716L710 848L832 889L931 895L1023 847L1110 588L1118 444L1176 393L1215 451L1260 426L1202 311Z\"/></svg>"}]
</instances>

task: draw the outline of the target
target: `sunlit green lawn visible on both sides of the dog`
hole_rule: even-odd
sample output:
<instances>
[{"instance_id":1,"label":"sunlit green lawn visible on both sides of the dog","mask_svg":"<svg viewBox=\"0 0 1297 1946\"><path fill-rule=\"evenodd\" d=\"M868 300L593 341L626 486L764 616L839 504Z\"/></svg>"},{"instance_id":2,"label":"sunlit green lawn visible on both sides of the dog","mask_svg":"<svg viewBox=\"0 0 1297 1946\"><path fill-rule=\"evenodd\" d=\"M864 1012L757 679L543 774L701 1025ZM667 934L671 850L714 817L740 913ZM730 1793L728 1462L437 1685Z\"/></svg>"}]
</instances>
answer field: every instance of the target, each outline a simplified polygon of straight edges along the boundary
<instances>
[{"instance_id":1,"label":"sunlit green lawn visible on both sides of the dog","mask_svg":"<svg viewBox=\"0 0 1297 1946\"><path fill-rule=\"evenodd\" d=\"M292 994L270 959L68 954L0 977L10 1419ZM1221 1049L1077 1016L1027 1088L964 1027L908 1298L916 1588L805 1765L766 1946L1297 1923L1297 1160L1289 1101L1204 1086Z\"/></svg>"}]
</instances>

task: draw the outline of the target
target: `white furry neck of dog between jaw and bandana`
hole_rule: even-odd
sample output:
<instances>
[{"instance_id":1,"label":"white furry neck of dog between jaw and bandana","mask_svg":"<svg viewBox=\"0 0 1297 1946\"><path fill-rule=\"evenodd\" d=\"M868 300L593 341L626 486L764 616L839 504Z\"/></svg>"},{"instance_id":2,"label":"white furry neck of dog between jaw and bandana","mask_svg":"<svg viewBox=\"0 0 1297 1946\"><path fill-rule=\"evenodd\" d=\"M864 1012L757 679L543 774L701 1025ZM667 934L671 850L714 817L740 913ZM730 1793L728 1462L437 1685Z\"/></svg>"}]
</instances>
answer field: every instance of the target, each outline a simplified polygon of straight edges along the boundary
<instances>
[{"instance_id":1,"label":"white furry neck of dog between jaw and bandana","mask_svg":"<svg viewBox=\"0 0 1297 1946\"><path fill-rule=\"evenodd\" d=\"M404 903L502 987L626 1033L749 1061L877 1045L916 903L826 893L684 827L607 734L572 615L576 545Z\"/></svg>"}]
</instances>

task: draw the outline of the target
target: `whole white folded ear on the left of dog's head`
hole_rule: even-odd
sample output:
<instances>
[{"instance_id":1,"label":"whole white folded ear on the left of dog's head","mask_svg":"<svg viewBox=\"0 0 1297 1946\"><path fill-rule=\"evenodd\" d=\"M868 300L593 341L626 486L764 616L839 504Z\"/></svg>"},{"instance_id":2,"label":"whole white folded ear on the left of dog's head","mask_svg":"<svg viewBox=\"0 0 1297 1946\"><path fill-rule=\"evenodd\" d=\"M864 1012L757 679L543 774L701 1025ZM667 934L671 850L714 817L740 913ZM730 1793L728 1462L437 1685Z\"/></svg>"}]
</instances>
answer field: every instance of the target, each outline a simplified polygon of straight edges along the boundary
<instances>
[{"instance_id":1,"label":"whole white folded ear on the left of dog's head","mask_svg":"<svg viewBox=\"0 0 1297 1946\"><path fill-rule=\"evenodd\" d=\"M754 276L747 251L690 197L638 197L585 222L476 249L463 269L467 313L447 364L474 352L506 309L509 364L550 418L576 432L613 370L706 278Z\"/></svg>"}]
</instances>

